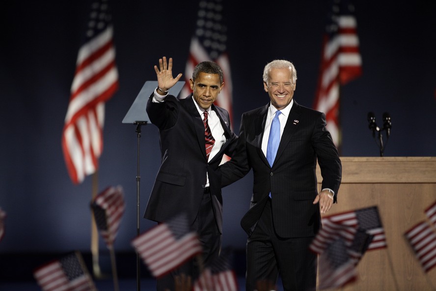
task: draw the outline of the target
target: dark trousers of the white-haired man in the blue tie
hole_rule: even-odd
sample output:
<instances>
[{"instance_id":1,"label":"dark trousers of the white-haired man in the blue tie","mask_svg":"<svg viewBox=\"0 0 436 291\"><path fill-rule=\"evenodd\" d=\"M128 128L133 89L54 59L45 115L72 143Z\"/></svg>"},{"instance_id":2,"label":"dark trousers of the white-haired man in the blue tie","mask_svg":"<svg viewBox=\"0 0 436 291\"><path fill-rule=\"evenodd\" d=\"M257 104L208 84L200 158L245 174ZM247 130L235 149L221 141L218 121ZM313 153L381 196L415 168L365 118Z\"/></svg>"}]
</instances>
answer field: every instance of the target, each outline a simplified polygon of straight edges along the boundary
<instances>
[{"instance_id":1,"label":"dark trousers of the white-haired man in the blue tie","mask_svg":"<svg viewBox=\"0 0 436 291\"><path fill-rule=\"evenodd\" d=\"M274 232L271 201L247 240L246 291L280 274L285 291L316 289L317 256L309 250L313 237L281 238Z\"/></svg>"}]
</instances>

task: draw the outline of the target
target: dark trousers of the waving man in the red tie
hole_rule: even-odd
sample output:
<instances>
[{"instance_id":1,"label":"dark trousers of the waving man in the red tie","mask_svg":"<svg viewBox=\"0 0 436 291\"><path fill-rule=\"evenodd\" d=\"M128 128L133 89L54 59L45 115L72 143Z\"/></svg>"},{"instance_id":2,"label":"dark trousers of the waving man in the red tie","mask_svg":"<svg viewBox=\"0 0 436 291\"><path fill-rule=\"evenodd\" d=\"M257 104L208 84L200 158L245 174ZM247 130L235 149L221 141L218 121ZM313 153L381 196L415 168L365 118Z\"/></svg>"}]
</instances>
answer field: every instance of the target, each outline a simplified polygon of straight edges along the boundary
<instances>
[{"instance_id":1,"label":"dark trousers of the waving man in the red tie","mask_svg":"<svg viewBox=\"0 0 436 291\"><path fill-rule=\"evenodd\" d=\"M221 247L221 233L219 233L217 222L215 221L210 193L203 195L203 200L201 201L201 206L197 218L192 225L192 229L197 232L203 247L201 258L194 257L169 274L158 278L156 282L157 291L175 290L175 277L181 274L191 276L193 284L200 274L200 269L218 258Z\"/></svg>"}]
</instances>

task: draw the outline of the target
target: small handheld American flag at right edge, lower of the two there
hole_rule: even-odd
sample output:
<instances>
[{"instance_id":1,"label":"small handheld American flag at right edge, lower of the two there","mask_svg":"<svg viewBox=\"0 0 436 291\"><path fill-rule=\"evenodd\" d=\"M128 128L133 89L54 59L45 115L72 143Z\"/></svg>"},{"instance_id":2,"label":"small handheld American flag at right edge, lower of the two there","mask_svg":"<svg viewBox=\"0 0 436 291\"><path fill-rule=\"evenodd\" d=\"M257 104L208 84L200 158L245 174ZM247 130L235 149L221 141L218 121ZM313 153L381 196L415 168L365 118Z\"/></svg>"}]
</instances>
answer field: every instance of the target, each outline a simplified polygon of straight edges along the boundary
<instances>
[{"instance_id":1,"label":"small handheld American flag at right edge, lower of the two there","mask_svg":"<svg viewBox=\"0 0 436 291\"><path fill-rule=\"evenodd\" d=\"M414 225L404 236L425 272L436 266L436 233L428 223Z\"/></svg>"}]
</instances>

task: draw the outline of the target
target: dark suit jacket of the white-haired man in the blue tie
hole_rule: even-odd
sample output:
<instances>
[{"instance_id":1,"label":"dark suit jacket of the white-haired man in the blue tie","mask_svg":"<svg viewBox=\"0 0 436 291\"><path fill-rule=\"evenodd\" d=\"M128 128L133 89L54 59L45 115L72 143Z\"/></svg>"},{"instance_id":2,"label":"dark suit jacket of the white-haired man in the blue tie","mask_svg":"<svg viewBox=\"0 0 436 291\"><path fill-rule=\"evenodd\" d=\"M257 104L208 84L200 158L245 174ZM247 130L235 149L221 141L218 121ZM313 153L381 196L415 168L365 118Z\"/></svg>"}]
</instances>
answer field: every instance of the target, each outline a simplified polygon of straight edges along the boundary
<instances>
[{"instance_id":1,"label":"dark suit jacket of the white-haired man in the blue tie","mask_svg":"<svg viewBox=\"0 0 436 291\"><path fill-rule=\"evenodd\" d=\"M333 190L336 202L342 176L338 151L325 127L325 115L294 100L270 167L262 152L268 108L269 104L243 114L237 152L221 166L222 186L253 169L250 209L241 221L248 235L253 232L271 191L275 232L285 238L313 236L321 227L319 204L312 204L318 194L316 163L318 160L323 176L322 188Z\"/></svg>"}]
</instances>

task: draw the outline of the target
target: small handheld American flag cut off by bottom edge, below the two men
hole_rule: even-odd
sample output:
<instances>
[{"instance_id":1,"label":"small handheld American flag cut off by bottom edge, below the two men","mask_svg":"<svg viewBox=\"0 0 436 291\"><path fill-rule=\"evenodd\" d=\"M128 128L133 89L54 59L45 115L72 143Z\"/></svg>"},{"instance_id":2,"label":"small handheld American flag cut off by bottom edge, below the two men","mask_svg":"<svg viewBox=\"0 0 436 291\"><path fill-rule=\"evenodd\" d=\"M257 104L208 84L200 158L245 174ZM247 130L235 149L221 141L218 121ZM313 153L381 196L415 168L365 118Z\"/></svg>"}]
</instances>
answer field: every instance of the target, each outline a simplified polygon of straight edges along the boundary
<instances>
[{"instance_id":1,"label":"small handheld American flag cut off by bottom edge, below the two men","mask_svg":"<svg viewBox=\"0 0 436 291\"><path fill-rule=\"evenodd\" d=\"M232 268L232 253L223 250L218 259L203 270L194 283L194 291L238 291L239 285Z\"/></svg>"}]
</instances>

